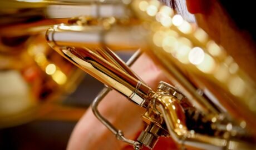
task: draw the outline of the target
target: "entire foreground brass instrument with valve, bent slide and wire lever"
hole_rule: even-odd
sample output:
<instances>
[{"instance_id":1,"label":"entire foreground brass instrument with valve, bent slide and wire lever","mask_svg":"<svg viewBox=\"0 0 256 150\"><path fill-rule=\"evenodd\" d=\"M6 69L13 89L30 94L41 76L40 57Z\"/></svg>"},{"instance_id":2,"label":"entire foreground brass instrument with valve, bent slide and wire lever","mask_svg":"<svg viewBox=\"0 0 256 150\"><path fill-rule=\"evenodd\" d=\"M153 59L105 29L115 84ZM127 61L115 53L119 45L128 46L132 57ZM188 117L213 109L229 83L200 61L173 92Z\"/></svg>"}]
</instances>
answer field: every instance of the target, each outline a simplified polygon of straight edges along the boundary
<instances>
[{"instance_id":1,"label":"entire foreground brass instrument with valve, bent slide and wire lever","mask_svg":"<svg viewBox=\"0 0 256 150\"><path fill-rule=\"evenodd\" d=\"M171 137L180 148L256 148L255 82L203 29L156 0L72 4L95 11L52 26L46 39L61 56L106 85L92 109L117 139L135 149L154 148L158 137ZM152 91L113 52L139 48L162 65L174 86L160 82ZM136 141L126 139L97 111L111 89L145 108L142 119L148 125Z\"/></svg>"}]
</instances>

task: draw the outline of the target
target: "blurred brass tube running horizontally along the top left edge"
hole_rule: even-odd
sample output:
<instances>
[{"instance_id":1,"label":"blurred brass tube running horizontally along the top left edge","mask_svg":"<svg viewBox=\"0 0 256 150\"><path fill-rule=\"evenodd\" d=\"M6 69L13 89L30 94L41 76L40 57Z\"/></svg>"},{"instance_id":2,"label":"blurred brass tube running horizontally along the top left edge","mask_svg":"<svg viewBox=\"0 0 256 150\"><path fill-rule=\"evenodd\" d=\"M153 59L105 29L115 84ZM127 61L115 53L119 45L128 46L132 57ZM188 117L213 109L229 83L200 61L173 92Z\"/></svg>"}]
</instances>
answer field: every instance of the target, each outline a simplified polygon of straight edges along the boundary
<instances>
[{"instance_id":1,"label":"blurred brass tube running horizontally along the top left edge","mask_svg":"<svg viewBox=\"0 0 256 150\"><path fill-rule=\"evenodd\" d=\"M46 31L51 25L76 16L123 17L127 9L120 1L0 1L0 36L23 36ZM62 18L62 19L61 19Z\"/></svg>"}]
</instances>

